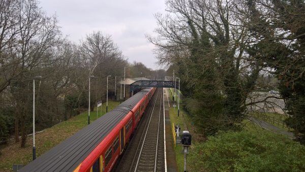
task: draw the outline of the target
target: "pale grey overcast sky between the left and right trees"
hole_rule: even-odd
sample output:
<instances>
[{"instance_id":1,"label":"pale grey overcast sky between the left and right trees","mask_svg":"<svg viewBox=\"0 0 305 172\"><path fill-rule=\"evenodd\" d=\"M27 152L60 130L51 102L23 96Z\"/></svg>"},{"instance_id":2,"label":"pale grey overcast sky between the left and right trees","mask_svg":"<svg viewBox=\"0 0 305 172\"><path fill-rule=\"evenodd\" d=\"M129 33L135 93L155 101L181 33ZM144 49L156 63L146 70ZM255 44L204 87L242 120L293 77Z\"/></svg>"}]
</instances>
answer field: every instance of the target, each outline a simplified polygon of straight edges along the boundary
<instances>
[{"instance_id":1,"label":"pale grey overcast sky between the left and right trees","mask_svg":"<svg viewBox=\"0 0 305 172\"><path fill-rule=\"evenodd\" d=\"M158 69L154 45L145 34L153 34L154 14L165 11L164 0L40 0L48 15L56 14L64 35L78 41L93 31L112 36L129 62L142 62Z\"/></svg>"}]
</instances>

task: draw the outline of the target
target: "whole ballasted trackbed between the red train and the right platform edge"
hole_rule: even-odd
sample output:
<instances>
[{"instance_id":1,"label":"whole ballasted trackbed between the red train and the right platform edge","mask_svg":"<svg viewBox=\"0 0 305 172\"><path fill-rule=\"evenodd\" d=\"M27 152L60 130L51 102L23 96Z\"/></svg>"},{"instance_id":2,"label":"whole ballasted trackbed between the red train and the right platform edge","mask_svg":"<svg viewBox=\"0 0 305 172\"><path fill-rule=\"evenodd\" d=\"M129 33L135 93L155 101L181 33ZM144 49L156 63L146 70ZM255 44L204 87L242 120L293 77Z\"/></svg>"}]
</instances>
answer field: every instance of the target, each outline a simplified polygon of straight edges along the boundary
<instances>
[{"instance_id":1,"label":"whole ballasted trackbed between the red train and the right platform edge","mask_svg":"<svg viewBox=\"0 0 305 172\"><path fill-rule=\"evenodd\" d=\"M157 89L134 136L112 171L166 171L163 89Z\"/></svg>"}]
</instances>

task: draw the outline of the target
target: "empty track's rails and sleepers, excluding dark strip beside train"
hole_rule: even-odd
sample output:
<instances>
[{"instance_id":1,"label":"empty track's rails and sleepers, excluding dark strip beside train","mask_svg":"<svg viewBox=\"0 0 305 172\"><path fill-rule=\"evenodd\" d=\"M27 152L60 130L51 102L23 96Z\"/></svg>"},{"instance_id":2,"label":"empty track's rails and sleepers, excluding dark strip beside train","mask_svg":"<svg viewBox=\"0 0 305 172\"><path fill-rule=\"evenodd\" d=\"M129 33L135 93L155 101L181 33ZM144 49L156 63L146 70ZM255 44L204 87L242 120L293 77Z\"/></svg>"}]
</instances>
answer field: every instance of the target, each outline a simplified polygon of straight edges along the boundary
<instances>
[{"instance_id":1,"label":"empty track's rails and sleepers, excluding dark strip beside train","mask_svg":"<svg viewBox=\"0 0 305 172\"><path fill-rule=\"evenodd\" d=\"M129 171L165 171L163 128L163 89L158 89Z\"/></svg>"}]
</instances>

